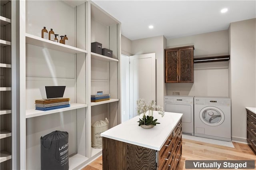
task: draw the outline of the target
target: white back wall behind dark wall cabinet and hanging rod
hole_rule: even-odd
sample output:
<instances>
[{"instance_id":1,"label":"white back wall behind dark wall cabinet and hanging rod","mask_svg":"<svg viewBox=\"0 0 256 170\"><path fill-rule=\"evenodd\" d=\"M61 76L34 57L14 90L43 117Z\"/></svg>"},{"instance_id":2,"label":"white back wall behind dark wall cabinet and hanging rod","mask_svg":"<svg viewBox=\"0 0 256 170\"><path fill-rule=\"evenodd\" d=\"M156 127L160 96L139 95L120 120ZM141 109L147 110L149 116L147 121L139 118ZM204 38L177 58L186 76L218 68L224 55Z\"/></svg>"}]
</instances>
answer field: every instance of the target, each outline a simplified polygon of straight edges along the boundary
<instances>
[{"instance_id":1,"label":"white back wall behind dark wall cabinet and hanging rod","mask_svg":"<svg viewBox=\"0 0 256 170\"><path fill-rule=\"evenodd\" d=\"M194 45L194 58L228 54L228 30L168 39L167 48ZM167 95L228 97L228 61L194 64L194 83L166 83Z\"/></svg>"}]
</instances>

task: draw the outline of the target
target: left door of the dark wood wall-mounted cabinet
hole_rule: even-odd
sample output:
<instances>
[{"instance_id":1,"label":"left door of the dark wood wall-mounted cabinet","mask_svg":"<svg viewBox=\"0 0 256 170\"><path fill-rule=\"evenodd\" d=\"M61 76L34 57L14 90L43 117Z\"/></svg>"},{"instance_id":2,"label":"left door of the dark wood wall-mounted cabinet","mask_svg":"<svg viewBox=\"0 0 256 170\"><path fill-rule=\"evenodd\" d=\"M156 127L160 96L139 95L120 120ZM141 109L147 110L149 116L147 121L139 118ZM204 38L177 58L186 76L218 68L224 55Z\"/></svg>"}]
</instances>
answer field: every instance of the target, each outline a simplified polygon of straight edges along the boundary
<instances>
[{"instance_id":1,"label":"left door of the dark wood wall-mounted cabinet","mask_svg":"<svg viewBox=\"0 0 256 170\"><path fill-rule=\"evenodd\" d=\"M165 82L178 83L178 50L165 51Z\"/></svg>"}]
</instances>

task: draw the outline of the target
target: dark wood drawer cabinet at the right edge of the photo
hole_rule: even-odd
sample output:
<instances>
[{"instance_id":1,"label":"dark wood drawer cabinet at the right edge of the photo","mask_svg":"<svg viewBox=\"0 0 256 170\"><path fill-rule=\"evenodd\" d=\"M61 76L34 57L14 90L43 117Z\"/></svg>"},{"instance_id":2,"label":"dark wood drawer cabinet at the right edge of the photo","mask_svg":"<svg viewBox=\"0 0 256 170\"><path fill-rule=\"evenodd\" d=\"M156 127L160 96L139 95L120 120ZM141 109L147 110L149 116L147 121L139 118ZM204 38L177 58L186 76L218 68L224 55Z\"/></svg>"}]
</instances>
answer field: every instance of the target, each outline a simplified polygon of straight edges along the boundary
<instances>
[{"instance_id":1,"label":"dark wood drawer cabinet at the right edge of the photo","mask_svg":"<svg viewBox=\"0 0 256 170\"><path fill-rule=\"evenodd\" d=\"M247 113L247 142L256 154L256 114L246 109Z\"/></svg>"}]
</instances>

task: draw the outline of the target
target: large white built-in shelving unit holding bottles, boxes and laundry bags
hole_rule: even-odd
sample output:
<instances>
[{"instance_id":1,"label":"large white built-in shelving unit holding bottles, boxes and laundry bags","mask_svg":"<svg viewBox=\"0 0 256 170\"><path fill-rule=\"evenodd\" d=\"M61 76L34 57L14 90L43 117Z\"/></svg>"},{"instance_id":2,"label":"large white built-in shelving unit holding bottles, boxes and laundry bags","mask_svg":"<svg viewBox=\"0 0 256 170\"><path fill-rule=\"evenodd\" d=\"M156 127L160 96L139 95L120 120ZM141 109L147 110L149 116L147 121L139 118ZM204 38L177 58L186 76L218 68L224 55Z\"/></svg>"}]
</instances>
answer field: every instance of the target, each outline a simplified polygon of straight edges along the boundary
<instances>
[{"instance_id":1,"label":"large white built-in shelving unit holding bottles, boxes and laundry bags","mask_svg":"<svg viewBox=\"0 0 256 170\"><path fill-rule=\"evenodd\" d=\"M40 137L54 130L69 133L69 168L82 168L102 154L91 147L92 123L107 117L111 128L121 120L120 22L91 1L20 1L20 16L20 169L40 169ZM69 45L41 38L44 26L67 35ZM113 57L91 52L91 42L111 49ZM40 87L47 85L65 85L71 106L35 110ZM91 102L97 91L111 99Z\"/></svg>"}]
</instances>

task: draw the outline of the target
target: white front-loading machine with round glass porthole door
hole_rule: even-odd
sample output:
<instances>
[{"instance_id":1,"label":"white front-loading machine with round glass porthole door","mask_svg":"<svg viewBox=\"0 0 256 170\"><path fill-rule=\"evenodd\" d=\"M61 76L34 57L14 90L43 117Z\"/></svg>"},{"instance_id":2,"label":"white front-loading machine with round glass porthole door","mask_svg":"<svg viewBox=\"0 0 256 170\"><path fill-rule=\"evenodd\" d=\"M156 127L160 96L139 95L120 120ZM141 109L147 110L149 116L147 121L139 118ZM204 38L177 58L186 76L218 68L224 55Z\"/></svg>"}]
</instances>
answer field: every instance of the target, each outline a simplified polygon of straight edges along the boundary
<instances>
[{"instance_id":1,"label":"white front-loading machine with round glass porthole door","mask_svg":"<svg viewBox=\"0 0 256 170\"><path fill-rule=\"evenodd\" d=\"M195 136L231 141L231 101L228 97L194 97Z\"/></svg>"}]
</instances>

